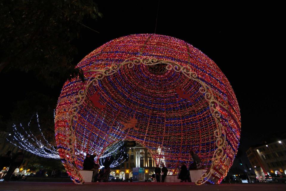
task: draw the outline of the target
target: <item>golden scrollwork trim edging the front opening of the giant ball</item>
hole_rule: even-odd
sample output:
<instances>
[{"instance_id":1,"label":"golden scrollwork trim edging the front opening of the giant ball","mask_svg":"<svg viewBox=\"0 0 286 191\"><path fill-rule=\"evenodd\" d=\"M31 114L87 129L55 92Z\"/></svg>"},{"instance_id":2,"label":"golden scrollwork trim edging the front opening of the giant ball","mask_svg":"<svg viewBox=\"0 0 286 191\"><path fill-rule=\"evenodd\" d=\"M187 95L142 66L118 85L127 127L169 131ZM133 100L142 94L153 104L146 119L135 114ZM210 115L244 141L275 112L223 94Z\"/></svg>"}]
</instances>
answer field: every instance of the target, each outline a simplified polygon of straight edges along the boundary
<instances>
[{"instance_id":1,"label":"golden scrollwork trim edging the front opening of the giant ball","mask_svg":"<svg viewBox=\"0 0 286 191\"><path fill-rule=\"evenodd\" d=\"M222 134L225 134L224 128L222 124L220 123L220 116L221 113L218 110L219 104L215 100L215 97L212 93L211 88L204 82L202 82L200 79L197 78L197 73L192 71L192 68L188 65L181 66L177 62L174 61L158 61L155 57L130 57L126 59L124 62L120 64L112 64L110 67L105 67L105 71L94 73L86 82L84 85L84 88L78 92L77 95L74 96L72 100L72 106L68 111L68 122L69 122L69 129L66 131L66 145L67 150L65 153L65 159L68 162L69 166L71 167L71 176L73 177L73 181L75 184L81 184L83 183L83 177L81 176L80 172L77 170L77 168L74 165L74 162L76 161L76 155L74 154L74 147L75 147L75 141L76 141L76 135L74 133L74 130L72 128L73 121L77 121L78 115L77 113L80 110L80 105L83 104L83 102L86 99L86 93L88 92L89 87L91 85L96 86L99 84L99 80L103 79L105 76L111 76L112 74L119 71L119 69L127 65L128 68L133 68L134 65L157 65L157 64L166 64L166 69L168 71L174 70L175 72L182 72L186 77L189 79L195 80L198 82L201 87L199 88L200 93L204 94L204 98L209 103L210 112L212 113L212 116L215 118L216 124L217 124L217 130L215 130L214 134L216 137L216 146L217 149L214 152L214 155L212 157L212 164L208 171L206 173L203 173L200 179L196 181L197 185L201 185L206 183L212 176L213 170L215 165L219 164L220 160L223 157L224 153L224 145L226 143L226 136L223 136Z\"/></svg>"}]
</instances>

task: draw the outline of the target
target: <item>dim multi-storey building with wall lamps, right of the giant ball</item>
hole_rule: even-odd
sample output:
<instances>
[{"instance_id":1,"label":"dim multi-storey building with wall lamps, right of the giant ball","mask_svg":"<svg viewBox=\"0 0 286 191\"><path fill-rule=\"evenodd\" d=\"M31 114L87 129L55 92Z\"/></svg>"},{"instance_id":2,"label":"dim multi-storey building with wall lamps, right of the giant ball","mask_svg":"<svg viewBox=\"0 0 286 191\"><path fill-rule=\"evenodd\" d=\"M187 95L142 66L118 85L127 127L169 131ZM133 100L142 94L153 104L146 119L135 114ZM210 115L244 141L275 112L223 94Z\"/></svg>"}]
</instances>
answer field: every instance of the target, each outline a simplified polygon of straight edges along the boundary
<instances>
[{"instance_id":1,"label":"dim multi-storey building with wall lamps, right of the giant ball","mask_svg":"<svg viewBox=\"0 0 286 191\"><path fill-rule=\"evenodd\" d=\"M286 174L286 139L251 147L246 154L260 182L268 174Z\"/></svg>"}]
</instances>

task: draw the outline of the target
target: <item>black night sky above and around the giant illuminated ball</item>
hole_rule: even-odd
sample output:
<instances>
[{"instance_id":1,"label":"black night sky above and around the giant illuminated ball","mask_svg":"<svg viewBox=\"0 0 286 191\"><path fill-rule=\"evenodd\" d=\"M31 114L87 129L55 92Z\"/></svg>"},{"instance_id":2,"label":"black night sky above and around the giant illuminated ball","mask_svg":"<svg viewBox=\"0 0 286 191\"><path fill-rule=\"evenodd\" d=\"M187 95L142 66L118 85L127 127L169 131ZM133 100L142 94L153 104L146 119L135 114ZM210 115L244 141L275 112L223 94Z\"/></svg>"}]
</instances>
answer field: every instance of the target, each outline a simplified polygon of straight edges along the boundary
<instances>
[{"instance_id":1,"label":"black night sky above and around the giant illuminated ball","mask_svg":"<svg viewBox=\"0 0 286 191\"><path fill-rule=\"evenodd\" d=\"M114 38L155 31L158 1L102 1L98 7L103 18L87 19L84 24L100 33L87 28L81 31L76 42L79 49L76 62ZM277 7L250 4L206 7L206 3L195 5L184 1L159 4L156 34L192 44L214 60L229 80L240 106L243 153L251 145L285 132L285 60L281 56L285 53L280 49L284 22ZM1 100L7 103L21 98L13 95L16 92L24 94L33 88L60 95L61 87L46 89L33 76L7 75L10 74L0 75L2 90L9 92L2 94ZM17 80L22 83L14 83ZM5 103L1 108L1 115L9 117L13 108Z\"/></svg>"}]
</instances>

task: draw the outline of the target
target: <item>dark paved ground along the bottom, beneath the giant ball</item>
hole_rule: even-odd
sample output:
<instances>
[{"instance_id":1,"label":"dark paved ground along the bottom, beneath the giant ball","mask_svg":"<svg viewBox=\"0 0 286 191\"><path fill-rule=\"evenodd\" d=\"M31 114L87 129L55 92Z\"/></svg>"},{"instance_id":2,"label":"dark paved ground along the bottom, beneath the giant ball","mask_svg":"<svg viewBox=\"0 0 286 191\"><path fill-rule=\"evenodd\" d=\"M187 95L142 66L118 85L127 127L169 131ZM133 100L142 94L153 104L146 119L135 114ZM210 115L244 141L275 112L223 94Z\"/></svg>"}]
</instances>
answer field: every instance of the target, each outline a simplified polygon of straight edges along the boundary
<instances>
[{"instance_id":1,"label":"dark paved ground along the bottom, beneath the giant ball","mask_svg":"<svg viewBox=\"0 0 286 191\"><path fill-rule=\"evenodd\" d=\"M102 191L285 191L286 183L256 183L256 184L220 184L220 185L152 185L146 184L120 184L115 182L108 182L108 184L83 184L75 185L66 182L1 182L0 191L89 191L89 190L102 190Z\"/></svg>"}]
</instances>

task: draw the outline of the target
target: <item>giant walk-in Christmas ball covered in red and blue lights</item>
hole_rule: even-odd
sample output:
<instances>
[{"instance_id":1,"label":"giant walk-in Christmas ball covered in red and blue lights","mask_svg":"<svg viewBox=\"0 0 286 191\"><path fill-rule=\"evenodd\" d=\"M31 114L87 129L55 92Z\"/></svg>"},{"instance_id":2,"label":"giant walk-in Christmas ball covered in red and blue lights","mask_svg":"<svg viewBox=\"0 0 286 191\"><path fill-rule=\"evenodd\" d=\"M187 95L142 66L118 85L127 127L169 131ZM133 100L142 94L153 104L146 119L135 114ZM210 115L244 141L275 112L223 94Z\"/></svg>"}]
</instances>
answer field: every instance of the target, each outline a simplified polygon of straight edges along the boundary
<instances>
[{"instance_id":1,"label":"giant walk-in Christmas ball covered in red and blue lights","mask_svg":"<svg viewBox=\"0 0 286 191\"><path fill-rule=\"evenodd\" d=\"M129 35L88 54L66 81L55 118L60 157L75 183L86 153L96 160L119 140L135 140L177 173L195 151L207 169L196 184L218 184L240 140L240 109L226 76L197 48L173 37Z\"/></svg>"}]
</instances>

